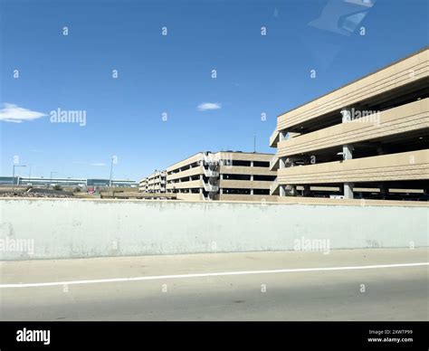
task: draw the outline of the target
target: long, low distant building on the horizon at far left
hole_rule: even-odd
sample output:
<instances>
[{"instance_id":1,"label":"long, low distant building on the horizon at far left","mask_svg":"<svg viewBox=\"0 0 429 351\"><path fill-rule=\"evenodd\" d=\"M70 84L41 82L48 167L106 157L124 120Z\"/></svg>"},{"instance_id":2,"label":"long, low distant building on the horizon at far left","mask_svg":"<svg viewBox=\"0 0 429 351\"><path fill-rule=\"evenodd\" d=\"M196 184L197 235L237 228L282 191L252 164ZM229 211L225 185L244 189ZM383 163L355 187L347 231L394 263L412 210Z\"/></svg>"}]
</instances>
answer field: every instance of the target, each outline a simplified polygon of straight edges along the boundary
<instances>
[{"instance_id":1,"label":"long, low distant building on the horizon at far left","mask_svg":"<svg viewBox=\"0 0 429 351\"><path fill-rule=\"evenodd\" d=\"M103 178L50 178L50 177L23 177L23 176L0 176L0 185L32 185L32 186L110 186L110 179ZM112 179L111 185L115 187L138 187L134 180Z\"/></svg>"}]
</instances>

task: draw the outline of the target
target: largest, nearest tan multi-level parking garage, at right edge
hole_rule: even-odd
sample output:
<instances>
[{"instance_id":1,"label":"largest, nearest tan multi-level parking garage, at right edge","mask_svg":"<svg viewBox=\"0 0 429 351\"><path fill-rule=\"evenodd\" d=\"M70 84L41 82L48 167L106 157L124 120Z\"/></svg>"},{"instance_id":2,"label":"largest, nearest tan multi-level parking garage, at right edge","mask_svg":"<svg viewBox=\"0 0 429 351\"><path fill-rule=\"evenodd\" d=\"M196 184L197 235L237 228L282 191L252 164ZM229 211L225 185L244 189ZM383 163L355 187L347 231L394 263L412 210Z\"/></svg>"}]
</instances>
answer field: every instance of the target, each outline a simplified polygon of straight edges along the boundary
<instances>
[{"instance_id":1,"label":"largest, nearest tan multi-level parking garage, at right edge","mask_svg":"<svg viewBox=\"0 0 429 351\"><path fill-rule=\"evenodd\" d=\"M427 199L428 52L279 116L271 194Z\"/></svg>"}]
</instances>

